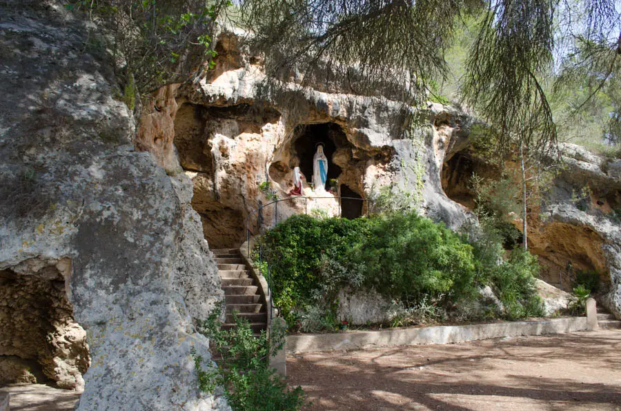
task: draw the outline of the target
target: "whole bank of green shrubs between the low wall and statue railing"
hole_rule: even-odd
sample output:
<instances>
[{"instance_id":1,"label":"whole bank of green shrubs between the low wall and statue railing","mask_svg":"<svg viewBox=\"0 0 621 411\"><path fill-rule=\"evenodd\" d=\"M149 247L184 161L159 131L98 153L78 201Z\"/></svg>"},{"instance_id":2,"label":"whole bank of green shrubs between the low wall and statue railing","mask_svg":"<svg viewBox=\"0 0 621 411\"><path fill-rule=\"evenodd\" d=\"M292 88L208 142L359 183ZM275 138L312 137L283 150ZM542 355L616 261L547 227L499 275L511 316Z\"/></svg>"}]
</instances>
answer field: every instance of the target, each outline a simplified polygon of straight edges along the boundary
<instances>
[{"instance_id":1,"label":"whole bank of green shrubs between the low wall and statue railing","mask_svg":"<svg viewBox=\"0 0 621 411\"><path fill-rule=\"evenodd\" d=\"M514 250L504 261L499 231L483 223L460 236L415 212L355 220L299 215L268 231L262 245L275 304L293 329L335 330L344 288L394 301L393 325L540 316L537 260ZM486 285L502 310L477 292Z\"/></svg>"}]
</instances>

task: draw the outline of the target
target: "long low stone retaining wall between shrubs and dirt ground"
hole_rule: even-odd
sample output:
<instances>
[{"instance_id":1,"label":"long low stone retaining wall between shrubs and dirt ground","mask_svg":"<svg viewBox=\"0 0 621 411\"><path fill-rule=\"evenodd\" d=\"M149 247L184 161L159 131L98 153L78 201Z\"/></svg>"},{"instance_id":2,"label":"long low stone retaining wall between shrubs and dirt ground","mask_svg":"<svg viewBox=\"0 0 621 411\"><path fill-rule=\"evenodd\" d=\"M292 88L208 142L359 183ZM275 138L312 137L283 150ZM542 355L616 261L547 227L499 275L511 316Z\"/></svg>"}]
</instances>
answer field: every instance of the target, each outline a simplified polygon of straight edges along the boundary
<instances>
[{"instance_id":1,"label":"long low stone retaining wall between shrubs and dirt ground","mask_svg":"<svg viewBox=\"0 0 621 411\"><path fill-rule=\"evenodd\" d=\"M373 345L451 344L582 330L586 330L586 317L473 325L438 325L426 328L351 331L337 334L290 335L287 337L287 352L359 350Z\"/></svg>"}]
</instances>

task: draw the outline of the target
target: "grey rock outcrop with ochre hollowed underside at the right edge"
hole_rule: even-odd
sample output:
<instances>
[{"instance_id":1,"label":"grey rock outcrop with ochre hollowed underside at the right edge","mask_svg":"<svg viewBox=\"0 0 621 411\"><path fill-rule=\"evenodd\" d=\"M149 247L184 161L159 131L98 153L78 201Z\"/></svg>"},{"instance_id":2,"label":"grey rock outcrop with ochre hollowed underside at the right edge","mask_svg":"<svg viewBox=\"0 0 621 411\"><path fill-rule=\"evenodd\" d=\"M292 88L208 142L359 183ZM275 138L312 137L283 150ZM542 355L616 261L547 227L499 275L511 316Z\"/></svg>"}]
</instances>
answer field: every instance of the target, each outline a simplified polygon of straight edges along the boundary
<instances>
[{"instance_id":1,"label":"grey rock outcrop with ochre hollowed underside at the right edge","mask_svg":"<svg viewBox=\"0 0 621 411\"><path fill-rule=\"evenodd\" d=\"M571 261L571 270L604 274L608 284L602 303L619 319L621 159L598 156L573 144L566 144L563 153L567 167L547 194L542 208L546 221L533 234L538 239L536 252L561 254L565 260L559 265Z\"/></svg>"}]
</instances>

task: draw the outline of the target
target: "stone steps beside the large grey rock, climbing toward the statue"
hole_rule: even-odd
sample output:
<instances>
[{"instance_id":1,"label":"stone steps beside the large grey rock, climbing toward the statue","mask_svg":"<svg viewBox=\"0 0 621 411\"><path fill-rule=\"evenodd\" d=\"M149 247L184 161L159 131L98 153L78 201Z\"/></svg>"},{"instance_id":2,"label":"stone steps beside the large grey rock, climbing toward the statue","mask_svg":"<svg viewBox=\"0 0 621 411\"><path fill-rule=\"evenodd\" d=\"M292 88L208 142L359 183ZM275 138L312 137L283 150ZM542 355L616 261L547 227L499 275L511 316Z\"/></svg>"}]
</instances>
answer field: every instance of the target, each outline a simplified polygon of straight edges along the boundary
<instances>
[{"instance_id":1,"label":"stone steps beside the large grey rock, climbing toward the statue","mask_svg":"<svg viewBox=\"0 0 621 411\"><path fill-rule=\"evenodd\" d=\"M255 335L267 328L267 310L263 296L237 248L211 250L218 265L226 304L226 320L222 329L235 327L233 313L248 320Z\"/></svg>"}]
</instances>

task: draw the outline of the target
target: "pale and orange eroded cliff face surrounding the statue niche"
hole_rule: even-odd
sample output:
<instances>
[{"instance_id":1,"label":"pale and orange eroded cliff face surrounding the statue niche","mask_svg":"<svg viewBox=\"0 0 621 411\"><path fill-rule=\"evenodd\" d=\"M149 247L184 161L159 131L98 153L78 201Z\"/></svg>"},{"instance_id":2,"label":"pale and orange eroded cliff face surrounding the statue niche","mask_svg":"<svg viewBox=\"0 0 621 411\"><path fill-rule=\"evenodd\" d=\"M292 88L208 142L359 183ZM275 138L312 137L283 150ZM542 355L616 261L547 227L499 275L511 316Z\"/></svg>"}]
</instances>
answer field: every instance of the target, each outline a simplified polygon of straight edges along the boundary
<instances>
[{"instance_id":1,"label":"pale and orange eroded cliff face surrounding the statue niche","mask_svg":"<svg viewBox=\"0 0 621 411\"><path fill-rule=\"evenodd\" d=\"M422 212L453 228L469 218L440 182L444 155L468 135L468 117L442 105L408 111L386 99L295 83L284 84L277 96L264 90L261 59L242 53L233 34L222 34L217 50L215 70L157 94L157 112L148 114L137 137L137 146L153 152L167 170L174 164L166 159L178 151L212 247L239 246L247 221L256 231L300 212L366 214L382 186L410 196ZM418 121L404 134L399 125L406 113ZM324 143L328 157L328 193L308 184L317 143ZM306 177L304 195L313 199L253 213L275 197L290 197L295 166ZM339 204L338 194L354 199Z\"/></svg>"}]
</instances>

